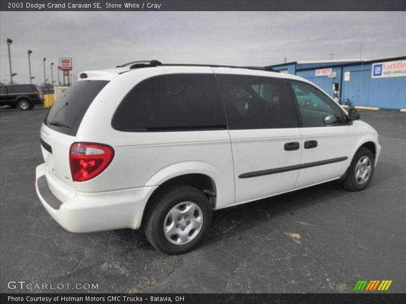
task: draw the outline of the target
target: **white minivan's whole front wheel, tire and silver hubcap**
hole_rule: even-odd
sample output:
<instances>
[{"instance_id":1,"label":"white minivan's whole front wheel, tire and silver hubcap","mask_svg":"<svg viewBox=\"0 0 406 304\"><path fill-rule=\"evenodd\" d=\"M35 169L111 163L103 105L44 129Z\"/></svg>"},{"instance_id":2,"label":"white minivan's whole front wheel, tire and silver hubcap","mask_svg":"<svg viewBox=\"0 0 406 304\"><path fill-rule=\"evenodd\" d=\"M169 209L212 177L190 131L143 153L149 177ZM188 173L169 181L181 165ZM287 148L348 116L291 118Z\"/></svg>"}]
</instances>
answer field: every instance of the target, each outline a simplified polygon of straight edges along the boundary
<instances>
[{"instance_id":1,"label":"white minivan's whole front wheel, tire and silver hubcap","mask_svg":"<svg viewBox=\"0 0 406 304\"><path fill-rule=\"evenodd\" d=\"M366 147L360 147L348 168L343 186L351 191L366 188L374 175L374 154Z\"/></svg>"}]
</instances>

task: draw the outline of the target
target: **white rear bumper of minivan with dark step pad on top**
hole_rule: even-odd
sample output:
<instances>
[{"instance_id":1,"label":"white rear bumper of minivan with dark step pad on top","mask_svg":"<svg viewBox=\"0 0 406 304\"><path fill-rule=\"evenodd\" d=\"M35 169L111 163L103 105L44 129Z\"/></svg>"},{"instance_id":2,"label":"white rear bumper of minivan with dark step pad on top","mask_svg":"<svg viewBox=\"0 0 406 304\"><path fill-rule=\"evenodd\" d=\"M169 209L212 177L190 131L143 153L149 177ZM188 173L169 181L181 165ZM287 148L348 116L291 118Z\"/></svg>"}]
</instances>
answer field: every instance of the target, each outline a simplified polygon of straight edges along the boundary
<instances>
[{"instance_id":1,"label":"white rear bumper of minivan with dark step pad on top","mask_svg":"<svg viewBox=\"0 0 406 304\"><path fill-rule=\"evenodd\" d=\"M67 191L60 201L50 189L46 165L36 170L37 195L48 213L71 232L94 232L113 229L138 229L145 205L156 187L141 187L118 191L83 193ZM61 197L61 195L58 195Z\"/></svg>"}]
</instances>

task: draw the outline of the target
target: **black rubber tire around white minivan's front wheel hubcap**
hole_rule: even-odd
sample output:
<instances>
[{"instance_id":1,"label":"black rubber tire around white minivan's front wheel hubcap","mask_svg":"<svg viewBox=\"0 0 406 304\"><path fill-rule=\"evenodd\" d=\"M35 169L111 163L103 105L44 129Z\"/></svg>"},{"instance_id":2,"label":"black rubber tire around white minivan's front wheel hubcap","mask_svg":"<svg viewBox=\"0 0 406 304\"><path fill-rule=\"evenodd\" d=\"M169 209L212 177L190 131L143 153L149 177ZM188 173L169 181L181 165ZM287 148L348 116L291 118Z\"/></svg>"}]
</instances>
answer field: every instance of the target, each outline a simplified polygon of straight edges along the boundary
<instances>
[{"instance_id":1,"label":"black rubber tire around white minivan's front wheel hubcap","mask_svg":"<svg viewBox=\"0 0 406 304\"><path fill-rule=\"evenodd\" d=\"M360 182L360 180L357 179L356 177L356 169L358 162L363 158L365 159L365 157L369 159L370 172L365 178L365 180L361 180L362 182ZM353 160L351 161L351 165L348 168L347 175L344 181L342 182L342 185L350 191L361 191L365 189L374 175L375 170L374 164L375 157L372 151L367 147L360 147L358 151L355 153Z\"/></svg>"}]
</instances>

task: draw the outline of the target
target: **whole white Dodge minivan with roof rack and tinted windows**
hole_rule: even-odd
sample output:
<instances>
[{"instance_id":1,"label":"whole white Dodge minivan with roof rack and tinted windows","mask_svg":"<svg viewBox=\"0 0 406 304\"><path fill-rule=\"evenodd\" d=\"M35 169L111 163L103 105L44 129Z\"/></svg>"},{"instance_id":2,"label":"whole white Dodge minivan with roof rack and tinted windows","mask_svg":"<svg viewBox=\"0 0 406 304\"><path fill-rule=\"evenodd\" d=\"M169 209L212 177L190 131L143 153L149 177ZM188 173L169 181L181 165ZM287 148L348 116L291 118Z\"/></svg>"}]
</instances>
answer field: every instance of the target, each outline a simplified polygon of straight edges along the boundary
<instances>
[{"instance_id":1,"label":"whole white Dodge minivan with roof rack and tinted windows","mask_svg":"<svg viewBox=\"0 0 406 304\"><path fill-rule=\"evenodd\" d=\"M357 110L295 75L153 60L82 72L45 118L41 149L37 194L65 229L142 227L177 254L212 210L334 179L364 189L381 146Z\"/></svg>"}]
</instances>

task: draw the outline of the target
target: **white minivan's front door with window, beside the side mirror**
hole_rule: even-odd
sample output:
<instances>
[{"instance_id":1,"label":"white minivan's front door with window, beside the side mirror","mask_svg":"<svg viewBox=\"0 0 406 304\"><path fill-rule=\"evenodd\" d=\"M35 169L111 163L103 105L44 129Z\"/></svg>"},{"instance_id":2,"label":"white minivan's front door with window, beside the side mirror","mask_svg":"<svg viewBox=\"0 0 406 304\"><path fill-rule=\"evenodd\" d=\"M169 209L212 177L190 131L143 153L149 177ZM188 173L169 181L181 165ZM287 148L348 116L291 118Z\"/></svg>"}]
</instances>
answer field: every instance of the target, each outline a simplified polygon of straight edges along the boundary
<instances>
[{"instance_id":1,"label":"white minivan's front door with window, beside the side mirror","mask_svg":"<svg viewBox=\"0 0 406 304\"><path fill-rule=\"evenodd\" d=\"M300 81L291 81L291 86L296 98L305 94L311 101L297 102L302 151L295 188L341 177L351 163L357 140L352 123L343 122L345 113L321 90ZM326 124L324 118L331 114L339 120Z\"/></svg>"}]
</instances>

